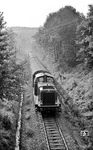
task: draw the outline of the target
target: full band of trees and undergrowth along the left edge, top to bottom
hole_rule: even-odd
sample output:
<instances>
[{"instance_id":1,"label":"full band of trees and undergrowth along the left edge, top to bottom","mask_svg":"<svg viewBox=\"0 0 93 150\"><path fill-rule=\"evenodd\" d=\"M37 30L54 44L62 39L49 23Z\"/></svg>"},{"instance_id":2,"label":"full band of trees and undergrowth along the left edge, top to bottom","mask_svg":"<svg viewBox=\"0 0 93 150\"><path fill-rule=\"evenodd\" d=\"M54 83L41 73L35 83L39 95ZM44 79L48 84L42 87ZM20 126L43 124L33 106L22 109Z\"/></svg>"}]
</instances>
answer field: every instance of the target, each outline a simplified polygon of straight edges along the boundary
<instances>
[{"instance_id":1,"label":"full band of trees and undergrowth along the left edge, top to bottom","mask_svg":"<svg viewBox=\"0 0 93 150\"><path fill-rule=\"evenodd\" d=\"M0 12L0 150L13 150L22 86L22 64L16 62L14 33Z\"/></svg>"}]
</instances>

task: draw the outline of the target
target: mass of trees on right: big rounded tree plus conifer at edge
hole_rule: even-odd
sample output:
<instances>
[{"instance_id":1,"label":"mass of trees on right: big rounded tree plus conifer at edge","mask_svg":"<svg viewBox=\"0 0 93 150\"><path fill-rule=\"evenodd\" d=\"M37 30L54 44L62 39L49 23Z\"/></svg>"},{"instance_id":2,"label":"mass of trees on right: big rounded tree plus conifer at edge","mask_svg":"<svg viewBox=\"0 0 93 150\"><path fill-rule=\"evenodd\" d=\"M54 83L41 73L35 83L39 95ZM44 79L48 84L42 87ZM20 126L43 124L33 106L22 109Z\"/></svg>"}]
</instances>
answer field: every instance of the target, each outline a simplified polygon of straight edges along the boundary
<instances>
[{"instance_id":1,"label":"mass of trees on right: big rounded tree plus conifer at edge","mask_svg":"<svg viewBox=\"0 0 93 150\"><path fill-rule=\"evenodd\" d=\"M87 17L72 6L49 14L36 35L38 43L67 71L83 62L92 67L93 6Z\"/></svg>"}]
</instances>

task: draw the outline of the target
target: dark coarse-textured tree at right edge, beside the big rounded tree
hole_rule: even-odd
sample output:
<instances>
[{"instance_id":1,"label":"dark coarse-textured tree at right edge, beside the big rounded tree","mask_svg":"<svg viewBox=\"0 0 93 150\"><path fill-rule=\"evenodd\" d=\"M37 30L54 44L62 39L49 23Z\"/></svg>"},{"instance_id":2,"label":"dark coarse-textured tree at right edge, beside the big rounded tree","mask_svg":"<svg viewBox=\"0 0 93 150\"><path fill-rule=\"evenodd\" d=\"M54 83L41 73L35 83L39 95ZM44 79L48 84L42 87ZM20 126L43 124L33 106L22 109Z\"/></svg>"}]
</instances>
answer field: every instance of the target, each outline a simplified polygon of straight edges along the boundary
<instances>
[{"instance_id":1,"label":"dark coarse-textured tree at right edge, beside the big rounded tree","mask_svg":"<svg viewBox=\"0 0 93 150\"><path fill-rule=\"evenodd\" d=\"M93 6L89 5L89 13L77 27L77 41L80 46L78 60L83 61L88 67L93 66Z\"/></svg>"}]
</instances>

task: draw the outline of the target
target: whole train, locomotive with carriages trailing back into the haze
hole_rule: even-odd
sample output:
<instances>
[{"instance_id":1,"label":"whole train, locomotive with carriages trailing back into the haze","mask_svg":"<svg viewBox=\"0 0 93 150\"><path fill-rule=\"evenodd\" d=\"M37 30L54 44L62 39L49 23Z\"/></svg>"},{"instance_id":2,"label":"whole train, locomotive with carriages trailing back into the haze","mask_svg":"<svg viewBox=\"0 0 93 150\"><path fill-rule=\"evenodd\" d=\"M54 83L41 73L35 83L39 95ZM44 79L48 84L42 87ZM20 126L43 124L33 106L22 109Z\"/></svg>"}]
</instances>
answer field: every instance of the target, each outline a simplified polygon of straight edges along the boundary
<instances>
[{"instance_id":1,"label":"whole train, locomotive with carriages trailing back into the haze","mask_svg":"<svg viewBox=\"0 0 93 150\"><path fill-rule=\"evenodd\" d=\"M36 110L61 110L53 75L40 62L33 58L31 61L33 95Z\"/></svg>"}]
</instances>

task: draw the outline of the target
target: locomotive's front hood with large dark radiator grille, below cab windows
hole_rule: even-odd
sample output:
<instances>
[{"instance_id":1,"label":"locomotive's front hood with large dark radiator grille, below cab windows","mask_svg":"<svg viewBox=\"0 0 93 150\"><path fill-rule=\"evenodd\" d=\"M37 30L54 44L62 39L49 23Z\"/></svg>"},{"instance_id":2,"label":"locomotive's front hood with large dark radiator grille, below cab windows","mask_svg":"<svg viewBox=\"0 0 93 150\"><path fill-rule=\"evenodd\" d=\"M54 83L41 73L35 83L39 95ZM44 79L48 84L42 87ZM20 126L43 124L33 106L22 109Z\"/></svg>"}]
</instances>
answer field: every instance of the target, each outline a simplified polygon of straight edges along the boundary
<instances>
[{"instance_id":1,"label":"locomotive's front hood with large dark radiator grille, below cab windows","mask_svg":"<svg viewBox=\"0 0 93 150\"><path fill-rule=\"evenodd\" d=\"M43 110L54 110L60 108L57 90L52 84L45 83L43 85L39 85L39 100L39 107Z\"/></svg>"}]
</instances>

